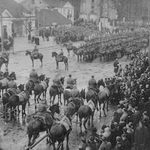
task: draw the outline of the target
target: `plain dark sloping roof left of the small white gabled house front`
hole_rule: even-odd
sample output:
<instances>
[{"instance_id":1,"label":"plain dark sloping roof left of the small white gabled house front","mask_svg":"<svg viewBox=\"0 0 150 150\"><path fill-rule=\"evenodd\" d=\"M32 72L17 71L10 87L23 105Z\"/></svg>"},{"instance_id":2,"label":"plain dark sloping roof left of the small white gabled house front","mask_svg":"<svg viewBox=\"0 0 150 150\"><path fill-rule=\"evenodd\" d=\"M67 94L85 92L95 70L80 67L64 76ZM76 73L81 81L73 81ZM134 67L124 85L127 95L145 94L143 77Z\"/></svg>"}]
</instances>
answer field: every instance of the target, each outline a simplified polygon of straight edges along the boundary
<instances>
[{"instance_id":1,"label":"plain dark sloping roof left of the small white gabled house front","mask_svg":"<svg viewBox=\"0 0 150 150\"><path fill-rule=\"evenodd\" d=\"M71 20L65 18L57 10L42 9L39 12L39 24L40 27L50 26L53 23L58 25L67 25L71 24Z\"/></svg>"}]
</instances>

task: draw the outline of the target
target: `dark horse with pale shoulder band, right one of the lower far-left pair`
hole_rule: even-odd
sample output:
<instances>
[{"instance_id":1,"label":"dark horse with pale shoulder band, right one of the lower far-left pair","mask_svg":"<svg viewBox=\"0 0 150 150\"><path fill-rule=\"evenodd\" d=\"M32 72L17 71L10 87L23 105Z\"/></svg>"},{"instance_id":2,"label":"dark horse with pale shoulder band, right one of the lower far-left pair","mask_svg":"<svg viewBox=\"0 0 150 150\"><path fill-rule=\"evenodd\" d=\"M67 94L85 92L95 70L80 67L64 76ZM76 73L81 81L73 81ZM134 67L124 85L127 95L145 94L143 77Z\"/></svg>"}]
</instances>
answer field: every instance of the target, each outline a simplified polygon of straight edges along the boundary
<instances>
[{"instance_id":1,"label":"dark horse with pale shoulder band, right one of the lower far-left pair","mask_svg":"<svg viewBox=\"0 0 150 150\"><path fill-rule=\"evenodd\" d=\"M10 111L12 112L13 115L13 110L18 108L18 115L20 113L19 106L22 106L22 116L26 116L26 104L27 102L29 103L29 98L30 98L30 91L24 90L19 94L15 94L9 97L9 102L8 102L8 108L10 108Z\"/></svg>"}]
</instances>

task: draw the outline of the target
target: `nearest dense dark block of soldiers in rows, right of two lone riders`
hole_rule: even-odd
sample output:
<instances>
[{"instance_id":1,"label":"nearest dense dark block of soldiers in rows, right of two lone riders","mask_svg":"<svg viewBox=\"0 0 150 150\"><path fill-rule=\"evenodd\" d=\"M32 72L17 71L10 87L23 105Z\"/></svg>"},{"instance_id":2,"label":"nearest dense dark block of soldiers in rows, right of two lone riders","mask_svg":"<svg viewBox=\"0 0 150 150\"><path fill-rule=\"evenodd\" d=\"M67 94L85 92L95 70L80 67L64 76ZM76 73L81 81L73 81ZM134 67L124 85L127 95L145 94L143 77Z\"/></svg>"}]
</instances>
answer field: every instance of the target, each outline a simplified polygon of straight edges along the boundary
<instances>
[{"instance_id":1,"label":"nearest dense dark block of soldiers in rows, right of two lone riders","mask_svg":"<svg viewBox=\"0 0 150 150\"><path fill-rule=\"evenodd\" d=\"M82 45L76 51L77 55L83 55L84 60L92 61L96 57L100 60L110 61L125 54L137 52L149 45L148 32L133 32L126 34L117 34L114 36L95 38Z\"/></svg>"}]
</instances>

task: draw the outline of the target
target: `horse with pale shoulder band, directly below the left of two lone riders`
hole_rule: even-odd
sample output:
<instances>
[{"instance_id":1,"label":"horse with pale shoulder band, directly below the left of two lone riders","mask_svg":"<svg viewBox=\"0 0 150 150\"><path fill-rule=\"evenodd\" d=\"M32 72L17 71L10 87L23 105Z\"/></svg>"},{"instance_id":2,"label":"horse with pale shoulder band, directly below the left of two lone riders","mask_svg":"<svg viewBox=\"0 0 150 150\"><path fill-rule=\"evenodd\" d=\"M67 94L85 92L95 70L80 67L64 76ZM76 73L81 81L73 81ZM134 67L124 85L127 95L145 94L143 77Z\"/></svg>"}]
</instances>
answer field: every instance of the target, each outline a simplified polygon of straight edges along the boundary
<instances>
[{"instance_id":1,"label":"horse with pale shoulder band, directly below the left of two lone riders","mask_svg":"<svg viewBox=\"0 0 150 150\"><path fill-rule=\"evenodd\" d=\"M46 92L47 92L48 85L49 85L49 78L44 79L40 83L35 83L35 86L33 89L35 108L36 108L36 101L39 103L39 99L40 99L40 96L42 93L43 93L43 97L46 98Z\"/></svg>"}]
</instances>

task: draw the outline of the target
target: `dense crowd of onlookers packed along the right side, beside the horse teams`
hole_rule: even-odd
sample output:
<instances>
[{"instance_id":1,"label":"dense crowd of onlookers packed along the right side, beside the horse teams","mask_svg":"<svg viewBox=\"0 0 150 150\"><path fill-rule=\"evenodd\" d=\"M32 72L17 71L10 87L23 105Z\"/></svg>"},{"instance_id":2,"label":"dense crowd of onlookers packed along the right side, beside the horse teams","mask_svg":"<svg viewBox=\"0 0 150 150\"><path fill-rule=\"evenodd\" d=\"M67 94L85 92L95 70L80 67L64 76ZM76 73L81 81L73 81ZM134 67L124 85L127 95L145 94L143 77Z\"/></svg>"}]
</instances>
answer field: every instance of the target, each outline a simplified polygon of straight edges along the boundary
<instances>
[{"instance_id":1,"label":"dense crowd of onlookers packed along the right side, beside the horse teams","mask_svg":"<svg viewBox=\"0 0 150 150\"><path fill-rule=\"evenodd\" d=\"M101 128L99 150L149 150L150 66L148 56L145 53L136 53L124 69L119 62L116 64L118 70L115 76L105 79L105 84L111 91L110 102L115 101L117 109L114 111L110 125L103 125ZM90 146L86 149L91 150Z\"/></svg>"}]
</instances>

